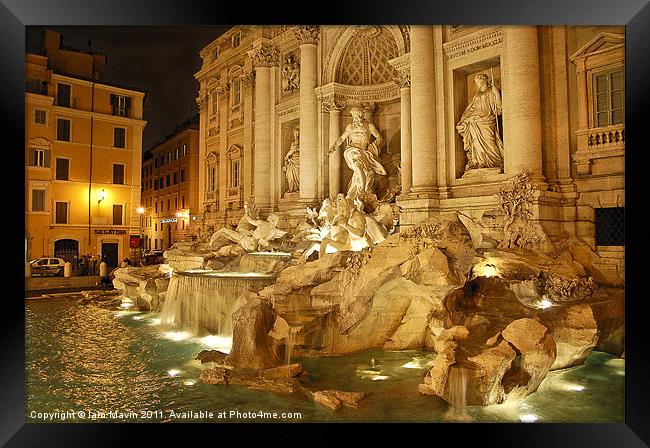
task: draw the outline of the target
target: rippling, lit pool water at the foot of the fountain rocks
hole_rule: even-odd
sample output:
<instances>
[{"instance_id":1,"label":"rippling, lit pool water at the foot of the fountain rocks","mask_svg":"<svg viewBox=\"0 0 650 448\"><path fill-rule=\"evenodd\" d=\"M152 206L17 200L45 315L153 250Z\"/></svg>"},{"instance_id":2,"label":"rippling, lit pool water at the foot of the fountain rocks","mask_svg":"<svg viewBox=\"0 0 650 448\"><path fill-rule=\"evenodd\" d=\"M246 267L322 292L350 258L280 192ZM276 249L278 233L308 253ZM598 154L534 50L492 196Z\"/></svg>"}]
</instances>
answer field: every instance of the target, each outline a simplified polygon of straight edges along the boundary
<instances>
[{"instance_id":1,"label":"rippling, lit pool water at the foot of the fountain rocks","mask_svg":"<svg viewBox=\"0 0 650 448\"><path fill-rule=\"evenodd\" d=\"M358 409L332 410L301 393L203 384L201 369L212 364L194 358L211 347L205 339L163 331L158 318L70 299L27 300L27 421L449 421L444 400L417 392L435 353L368 350L294 358L309 372L301 377L307 389L367 393ZM623 422L624 364L594 352L585 365L549 373L539 390L523 400L469 407L469 421Z\"/></svg>"}]
</instances>

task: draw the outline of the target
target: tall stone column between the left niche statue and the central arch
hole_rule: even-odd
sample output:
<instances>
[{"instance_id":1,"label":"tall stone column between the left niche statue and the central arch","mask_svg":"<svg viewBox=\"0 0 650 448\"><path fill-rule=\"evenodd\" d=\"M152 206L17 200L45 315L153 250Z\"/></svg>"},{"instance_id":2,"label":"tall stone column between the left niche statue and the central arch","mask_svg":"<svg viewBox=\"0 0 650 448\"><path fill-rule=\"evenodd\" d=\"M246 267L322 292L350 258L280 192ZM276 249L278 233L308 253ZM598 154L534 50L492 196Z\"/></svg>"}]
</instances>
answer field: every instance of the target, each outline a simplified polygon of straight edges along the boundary
<instances>
[{"instance_id":1,"label":"tall stone column between the left niche statue and the central arch","mask_svg":"<svg viewBox=\"0 0 650 448\"><path fill-rule=\"evenodd\" d=\"M318 65L316 50L319 27L293 27L300 42L300 199L318 197L318 100L316 88Z\"/></svg>"}]
</instances>

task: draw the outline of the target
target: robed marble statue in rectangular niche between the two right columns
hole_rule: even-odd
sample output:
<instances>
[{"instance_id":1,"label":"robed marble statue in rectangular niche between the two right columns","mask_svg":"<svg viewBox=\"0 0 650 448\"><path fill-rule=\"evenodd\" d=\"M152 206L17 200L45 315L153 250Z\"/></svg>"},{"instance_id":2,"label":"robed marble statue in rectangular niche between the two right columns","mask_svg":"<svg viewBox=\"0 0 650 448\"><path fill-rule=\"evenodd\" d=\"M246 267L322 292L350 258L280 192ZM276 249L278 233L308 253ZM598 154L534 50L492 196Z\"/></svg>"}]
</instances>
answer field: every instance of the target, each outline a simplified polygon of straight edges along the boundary
<instances>
[{"instance_id":1,"label":"robed marble statue in rectangular niche between the two right columns","mask_svg":"<svg viewBox=\"0 0 650 448\"><path fill-rule=\"evenodd\" d=\"M467 153L465 173L478 168L503 169L503 142L497 122L501 95L485 73L476 75L474 82L476 94L456 125Z\"/></svg>"}]
</instances>

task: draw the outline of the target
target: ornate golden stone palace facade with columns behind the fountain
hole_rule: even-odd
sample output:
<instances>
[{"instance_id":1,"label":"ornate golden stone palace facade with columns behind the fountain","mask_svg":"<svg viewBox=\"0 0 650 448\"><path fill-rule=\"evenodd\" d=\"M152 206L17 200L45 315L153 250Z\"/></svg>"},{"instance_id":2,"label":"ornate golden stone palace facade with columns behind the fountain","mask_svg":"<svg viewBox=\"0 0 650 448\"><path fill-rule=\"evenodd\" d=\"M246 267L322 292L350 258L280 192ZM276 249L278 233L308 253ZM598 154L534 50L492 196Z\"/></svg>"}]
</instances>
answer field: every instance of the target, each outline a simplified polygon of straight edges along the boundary
<instances>
[{"instance_id":1,"label":"ornate golden stone palace facade with columns behind the fountain","mask_svg":"<svg viewBox=\"0 0 650 448\"><path fill-rule=\"evenodd\" d=\"M236 224L244 201L291 228L347 190L328 149L363 107L380 131L378 197L400 225L435 214L483 219L528 170L533 219L623 259L624 28L621 26L237 26L200 52L199 211ZM459 120L487 75L501 95L499 167L467 170ZM300 127L300 186L282 171ZM401 192L392 198L394 185Z\"/></svg>"}]
</instances>

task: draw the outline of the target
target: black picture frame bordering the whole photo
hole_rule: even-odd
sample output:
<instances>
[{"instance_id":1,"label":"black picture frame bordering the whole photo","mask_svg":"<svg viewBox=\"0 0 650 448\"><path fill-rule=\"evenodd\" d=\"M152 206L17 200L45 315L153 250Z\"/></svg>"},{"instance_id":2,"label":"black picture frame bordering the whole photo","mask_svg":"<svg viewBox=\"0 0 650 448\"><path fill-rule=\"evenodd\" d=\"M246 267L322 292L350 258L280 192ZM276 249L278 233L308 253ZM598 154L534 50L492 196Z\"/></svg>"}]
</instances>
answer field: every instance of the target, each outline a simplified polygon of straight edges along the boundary
<instances>
[{"instance_id":1,"label":"black picture frame bordering the whole photo","mask_svg":"<svg viewBox=\"0 0 650 448\"><path fill-rule=\"evenodd\" d=\"M2 275L3 285L11 284L16 291L4 294L5 316L0 325L2 335L2 369L0 369L0 444L6 446L119 446L145 443L133 439L135 434L146 434L147 444L159 437L166 440L173 433L186 432L186 443L226 443L220 431L233 429L242 443L251 438L269 438L273 425L256 427L247 431L244 426L213 425L115 425L115 424L26 424L25 423L25 340L24 303L20 299L23 284L24 254L22 237L12 235L24 227L24 198L13 188L24 184L24 61L25 26L27 25L226 25L256 23L404 23L404 24L567 24L567 25L626 25L626 233L628 260L626 277L626 405L624 424L463 424L463 425L347 425L361 428L363 443L369 444L384 431L394 432L406 443L435 443L464 446L469 441L490 446L648 446L650 405L648 390L647 335L641 281L643 244L638 244L630 233L632 223L643 222L642 199L639 194L647 190L634 183L643 169L648 150L644 147L645 133L641 124L650 98L650 4L649 0L544 0L523 2L502 0L485 2L465 0L444 2L414 2L402 0L341 1L321 3L322 11L303 4L253 4L240 2L210 2L206 0L181 1L125 1L125 0L3 0L0 4L0 47L3 68L0 70L2 86L2 123L8 142L4 149L4 196L10 199L10 212L5 218L3 247L6 250ZM645 121L645 120L644 120ZM645 126L647 128L647 125ZM647 132L647 131L646 131ZM13 180L13 176L16 180ZM632 179L632 181L630 181ZM18 217L16 219L15 217ZM8 280L8 281L7 281ZM7 291L7 288L3 288ZM10 305L10 306L7 306ZM338 428L301 424L287 430L293 437L304 429L318 431L318 441L327 435L341 440ZM336 425L339 426L339 425ZM405 426L405 425L404 425ZM116 430L117 428L117 430ZM129 429L125 431L125 429ZM355 428L356 429L356 428ZM418 430L414 439L412 430ZM402 434L402 436L400 436ZM199 437L206 435L206 441ZM325 437L323 437L325 436ZM443 442L443 437L451 440ZM290 436L291 437L291 436ZM310 443L313 436L285 439L286 443ZM304 437L304 438L303 438ZM420 439L419 437L423 437ZM281 440L277 440L281 442ZM338 443L341 443L338 442ZM336 442L335 442L336 443Z\"/></svg>"}]
</instances>

